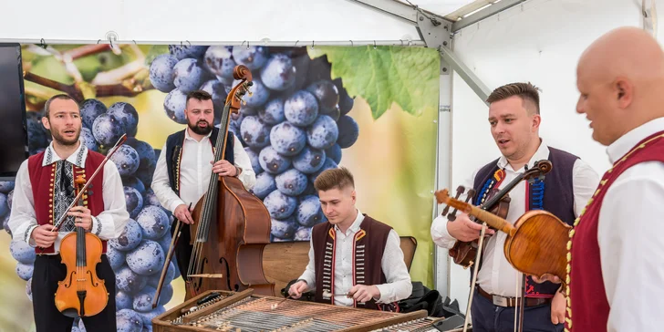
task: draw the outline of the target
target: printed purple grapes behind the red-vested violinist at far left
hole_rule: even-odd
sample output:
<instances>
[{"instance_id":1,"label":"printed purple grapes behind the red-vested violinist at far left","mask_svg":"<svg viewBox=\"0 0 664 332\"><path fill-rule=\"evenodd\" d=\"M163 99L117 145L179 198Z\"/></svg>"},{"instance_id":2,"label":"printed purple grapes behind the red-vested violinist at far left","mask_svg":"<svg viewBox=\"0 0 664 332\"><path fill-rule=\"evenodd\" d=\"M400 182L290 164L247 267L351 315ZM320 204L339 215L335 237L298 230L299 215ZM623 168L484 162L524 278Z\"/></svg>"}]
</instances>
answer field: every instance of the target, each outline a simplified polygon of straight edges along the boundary
<instances>
[{"instance_id":1,"label":"printed purple grapes behind the red-vested violinist at far left","mask_svg":"<svg viewBox=\"0 0 664 332\"><path fill-rule=\"evenodd\" d=\"M165 277L159 306L152 309L152 298L161 276L166 253L171 244L171 213L163 209L150 189L152 174L161 150L135 138L139 115L129 103L116 102L108 108L97 99L80 104L83 128L81 140L89 150L106 154L120 136L128 140L110 158L118 168L124 186L130 221L117 239L109 241L107 256L116 274L116 306L118 329L122 331L151 331L151 319L165 311L171 300L171 281L180 275L171 262ZM42 112L29 111L27 116L28 149L30 154L45 150L50 142L41 124ZM0 182L0 217L5 230L12 202L14 182ZM31 297L31 277L35 251L22 241L13 240L12 256L18 261L16 273L27 281L26 293ZM78 319L73 331L85 331Z\"/></svg>"}]
</instances>

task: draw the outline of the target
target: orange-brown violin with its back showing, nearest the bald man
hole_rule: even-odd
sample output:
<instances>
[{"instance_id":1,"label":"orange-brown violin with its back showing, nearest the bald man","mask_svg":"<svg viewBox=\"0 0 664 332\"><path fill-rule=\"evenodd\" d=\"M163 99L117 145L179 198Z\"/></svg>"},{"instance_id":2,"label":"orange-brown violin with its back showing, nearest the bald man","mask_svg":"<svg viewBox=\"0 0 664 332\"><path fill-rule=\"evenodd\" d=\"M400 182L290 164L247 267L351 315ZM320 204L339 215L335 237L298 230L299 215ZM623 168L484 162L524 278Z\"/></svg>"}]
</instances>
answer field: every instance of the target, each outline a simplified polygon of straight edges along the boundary
<instances>
[{"instance_id":1,"label":"orange-brown violin with its back showing, nearest the bald man","mask_svg":"<svg viewBox=\"0 0 664 332\"><path fill-rule=\"evenodd\" d=\"M514 269L539 278L555 275L560 278L565 290L566 244L571 226L543 210L528 211L513 225L477 206L451 198L447 189L435 192L435 196L439 203L449 204L506 233L503 251Z\"/></svg>"}]
</instances>

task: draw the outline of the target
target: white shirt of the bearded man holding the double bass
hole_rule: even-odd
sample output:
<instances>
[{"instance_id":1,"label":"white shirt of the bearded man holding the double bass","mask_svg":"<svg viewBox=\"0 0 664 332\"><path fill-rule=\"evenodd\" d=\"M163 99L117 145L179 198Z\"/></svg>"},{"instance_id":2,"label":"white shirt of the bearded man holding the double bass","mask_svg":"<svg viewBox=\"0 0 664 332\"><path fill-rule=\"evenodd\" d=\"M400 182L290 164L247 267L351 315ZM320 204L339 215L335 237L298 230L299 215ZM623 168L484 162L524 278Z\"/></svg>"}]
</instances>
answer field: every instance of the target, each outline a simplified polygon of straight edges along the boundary
<instances>
[{"instance_id":1,"label":"white shirt of the bearded man holding the double bass","mask_svg":"<svg viewBox=\"0 0 664 332\"><path fill-rule=\"evenodd\" d=\"M180 164L180 197L172 191L169 182L168 168L166 167L166 143L161 148L157 167L152 175L151 187L161 206L169 209L171 213L175 213L175 208L180 204L189 206L192 203L193 208L202 195L207 192L213 173L212 162L214 161L213 143L210 141L211 135L212 131L198 141L189 135L189 129L184 130L182 161ZM252 162L240 140L234 135L233 137L235 138L233 161L235 166L242 170L238 179L244 184L246 190L250 190L256 182Z\"/></svg>"}]
</instances>

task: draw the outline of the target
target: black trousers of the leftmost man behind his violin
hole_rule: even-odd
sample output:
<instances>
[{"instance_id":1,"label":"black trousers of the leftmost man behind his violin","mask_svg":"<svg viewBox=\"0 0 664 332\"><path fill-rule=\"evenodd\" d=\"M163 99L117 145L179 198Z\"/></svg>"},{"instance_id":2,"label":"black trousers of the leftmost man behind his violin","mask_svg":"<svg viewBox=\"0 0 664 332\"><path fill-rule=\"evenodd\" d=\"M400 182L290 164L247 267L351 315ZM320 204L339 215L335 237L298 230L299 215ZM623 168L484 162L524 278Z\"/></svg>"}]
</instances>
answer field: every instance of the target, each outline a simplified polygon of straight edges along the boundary
<instances>
[{"instance_id":1,"label":"black trousers of the leftmost man behind his violin","mask_svg":"<svg viewBox=\"0 0 664 332\"><path fill-rule=\"evenodd\" d=\"M59 254L37 254L32 275L32 307L35 314L36 332L70 332L74 318L63 315L56 307L57 282L65 279L67 266L61 263ZM99 279L105 281L109 292L109 303L95 316L81 317L86 330L116 332L115 273L106 254L101 255L97 265Z\"/></svg>"}]
</instances>

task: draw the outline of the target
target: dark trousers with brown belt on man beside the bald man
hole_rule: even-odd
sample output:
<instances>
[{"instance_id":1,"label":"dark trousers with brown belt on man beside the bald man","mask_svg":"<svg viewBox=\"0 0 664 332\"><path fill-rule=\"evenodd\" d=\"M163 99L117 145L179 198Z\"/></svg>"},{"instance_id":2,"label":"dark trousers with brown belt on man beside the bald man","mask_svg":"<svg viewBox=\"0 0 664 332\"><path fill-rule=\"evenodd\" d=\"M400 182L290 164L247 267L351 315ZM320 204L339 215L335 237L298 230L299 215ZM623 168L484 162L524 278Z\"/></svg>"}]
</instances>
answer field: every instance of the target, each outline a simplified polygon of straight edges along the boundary
<instances>
[{"instance_id":1,"label":"dark trousers with brown belt on man beside the bald man","mask_svg":"<svg viewBox=\"0 0 664 332\"><path fill-rule=\"evenodd\" d=\"M494 306L477 290L472 295L471 314L473 332L514 331L514 306ZM551 303L524 307L525 332L562 332L564 328L563 323L554 325L551 322Z\"/></svg>"}]
</instances>

